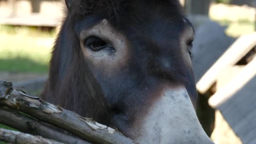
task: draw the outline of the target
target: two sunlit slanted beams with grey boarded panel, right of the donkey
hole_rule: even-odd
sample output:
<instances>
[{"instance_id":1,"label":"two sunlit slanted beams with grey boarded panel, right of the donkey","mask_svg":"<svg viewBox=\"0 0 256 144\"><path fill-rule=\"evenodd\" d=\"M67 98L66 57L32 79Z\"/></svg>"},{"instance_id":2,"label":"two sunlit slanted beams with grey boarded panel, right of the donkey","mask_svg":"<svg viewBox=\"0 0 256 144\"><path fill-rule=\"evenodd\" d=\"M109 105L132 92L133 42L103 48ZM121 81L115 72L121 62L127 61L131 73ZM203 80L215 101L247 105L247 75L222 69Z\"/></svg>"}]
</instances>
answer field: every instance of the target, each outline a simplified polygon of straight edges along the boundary
<instances>
[{"instance_id":1,"label":"two sunlit slanted beams with grey boarded panel, right of the donkey","mask_svg":"<svg viewBox=\"0 0 256 144\"><path fill-rule=\"evenodd\" d=\"M213 140L220 142L221 137L240 143L256 143L256 33L243 35L208 69L197 82L200 93L213 92L209 99L216 109L216 129ZM250 59L248 59L248 53ZM237 65L242 59L247 64ZM213 89L213 87L215 87ZM215 92L216 91L216 92ZM227 124L223 124L227 123ZM223 136L223 125L230 126L233 134ZM226 130L225 133L227 133ZM235 138L234 138L235 137ZM236 143L239 143L237 142ZM231 143L230 143L231 144Z\"/></svg>"}]
</instances>

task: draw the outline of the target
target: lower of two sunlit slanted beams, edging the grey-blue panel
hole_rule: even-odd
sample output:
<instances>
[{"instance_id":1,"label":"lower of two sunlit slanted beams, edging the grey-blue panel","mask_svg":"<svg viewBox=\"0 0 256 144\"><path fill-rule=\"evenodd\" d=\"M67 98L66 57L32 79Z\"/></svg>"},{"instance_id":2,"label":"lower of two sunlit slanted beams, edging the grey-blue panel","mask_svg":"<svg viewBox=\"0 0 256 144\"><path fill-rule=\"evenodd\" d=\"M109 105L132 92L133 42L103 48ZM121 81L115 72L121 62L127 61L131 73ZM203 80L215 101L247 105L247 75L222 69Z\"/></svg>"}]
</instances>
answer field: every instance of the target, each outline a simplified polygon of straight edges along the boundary
<instances>
[{"instance_id":1,"label":"lower of two sunlit slanted beams, edging the grey-blue panel","mask_svg":"<svg viewBox=\"0 0 256 144\"><path fill-rule=\"evenodd\" d=\"M229 98L231 98L237 91L244 87L248 81L250 81L256 75L256 57L247 64L237 76L227 83L224 88L217 91L211 98L208 103L211 107L218 107Z\"/></svg>"}]
</instances>

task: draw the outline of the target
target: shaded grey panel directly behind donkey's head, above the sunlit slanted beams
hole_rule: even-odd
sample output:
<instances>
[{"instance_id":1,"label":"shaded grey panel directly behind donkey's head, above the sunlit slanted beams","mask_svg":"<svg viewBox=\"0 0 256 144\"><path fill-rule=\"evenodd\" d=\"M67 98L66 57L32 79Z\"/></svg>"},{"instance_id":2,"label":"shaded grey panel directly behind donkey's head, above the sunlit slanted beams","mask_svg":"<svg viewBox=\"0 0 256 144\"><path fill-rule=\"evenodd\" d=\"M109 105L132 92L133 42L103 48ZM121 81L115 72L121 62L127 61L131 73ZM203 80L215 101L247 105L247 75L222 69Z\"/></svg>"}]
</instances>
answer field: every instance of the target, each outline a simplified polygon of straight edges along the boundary
<instances>
[{"instance_id":1,"label":"shaded grey panel directly behind donkey's head, above the sunlit slanted beams","mask_svg":"<svg viewBox=\"0 0 256 144\"><path fill-rule=\"evenodd\" d=\"M224 35L226 27L222 27L215 21L210 21L205 16L189 16L189 20L192 21L196 29L192 48L192 63L197 83L235 42L235 38Z\"/></svg>"}]
</instances>

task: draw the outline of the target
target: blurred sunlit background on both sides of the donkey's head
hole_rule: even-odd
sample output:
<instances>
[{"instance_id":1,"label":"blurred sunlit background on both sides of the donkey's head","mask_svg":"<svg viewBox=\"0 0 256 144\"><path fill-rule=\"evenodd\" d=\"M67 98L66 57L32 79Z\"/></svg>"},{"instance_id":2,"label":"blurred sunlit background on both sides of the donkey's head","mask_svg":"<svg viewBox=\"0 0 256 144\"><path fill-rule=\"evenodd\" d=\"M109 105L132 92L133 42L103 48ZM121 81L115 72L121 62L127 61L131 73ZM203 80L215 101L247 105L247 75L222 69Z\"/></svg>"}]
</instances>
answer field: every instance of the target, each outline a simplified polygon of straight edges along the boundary
<instances>
[{"instance_id":1,"label":"blurred sunlit background on both sides of the donkey's head","mask_svg":"<svg viewBox=\"0 0 256 144\"><path fill-rule=\"evenodd\" d=\"M195 27L197 114L216 144L256 144L256 0L181 0ZM0 80L39 94L64 0L0 0Z\"/></svg>"}]
</instances>

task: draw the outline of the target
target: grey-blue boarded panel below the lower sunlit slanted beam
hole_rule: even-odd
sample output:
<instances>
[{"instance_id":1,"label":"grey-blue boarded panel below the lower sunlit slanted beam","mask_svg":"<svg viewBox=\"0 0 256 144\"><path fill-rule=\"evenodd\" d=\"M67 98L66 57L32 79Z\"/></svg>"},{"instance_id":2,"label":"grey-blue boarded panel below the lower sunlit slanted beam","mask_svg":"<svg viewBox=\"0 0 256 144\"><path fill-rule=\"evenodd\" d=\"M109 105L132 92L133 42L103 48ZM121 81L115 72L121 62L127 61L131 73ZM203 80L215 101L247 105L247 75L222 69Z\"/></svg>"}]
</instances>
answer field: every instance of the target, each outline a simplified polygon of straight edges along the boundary
<instances>
[{"instance_id":1,"label":"grey-blue boarded panel below the lower sunlit slanted beam","mask_svg":"<svg viewBox=\"0 0 256 144\"><path fill-rule=\"evenodd\" d=\"M255 144L256 141L255 88L256 75L230 99L216 107L243 144Z\"/></svg>"}]
</instances>

